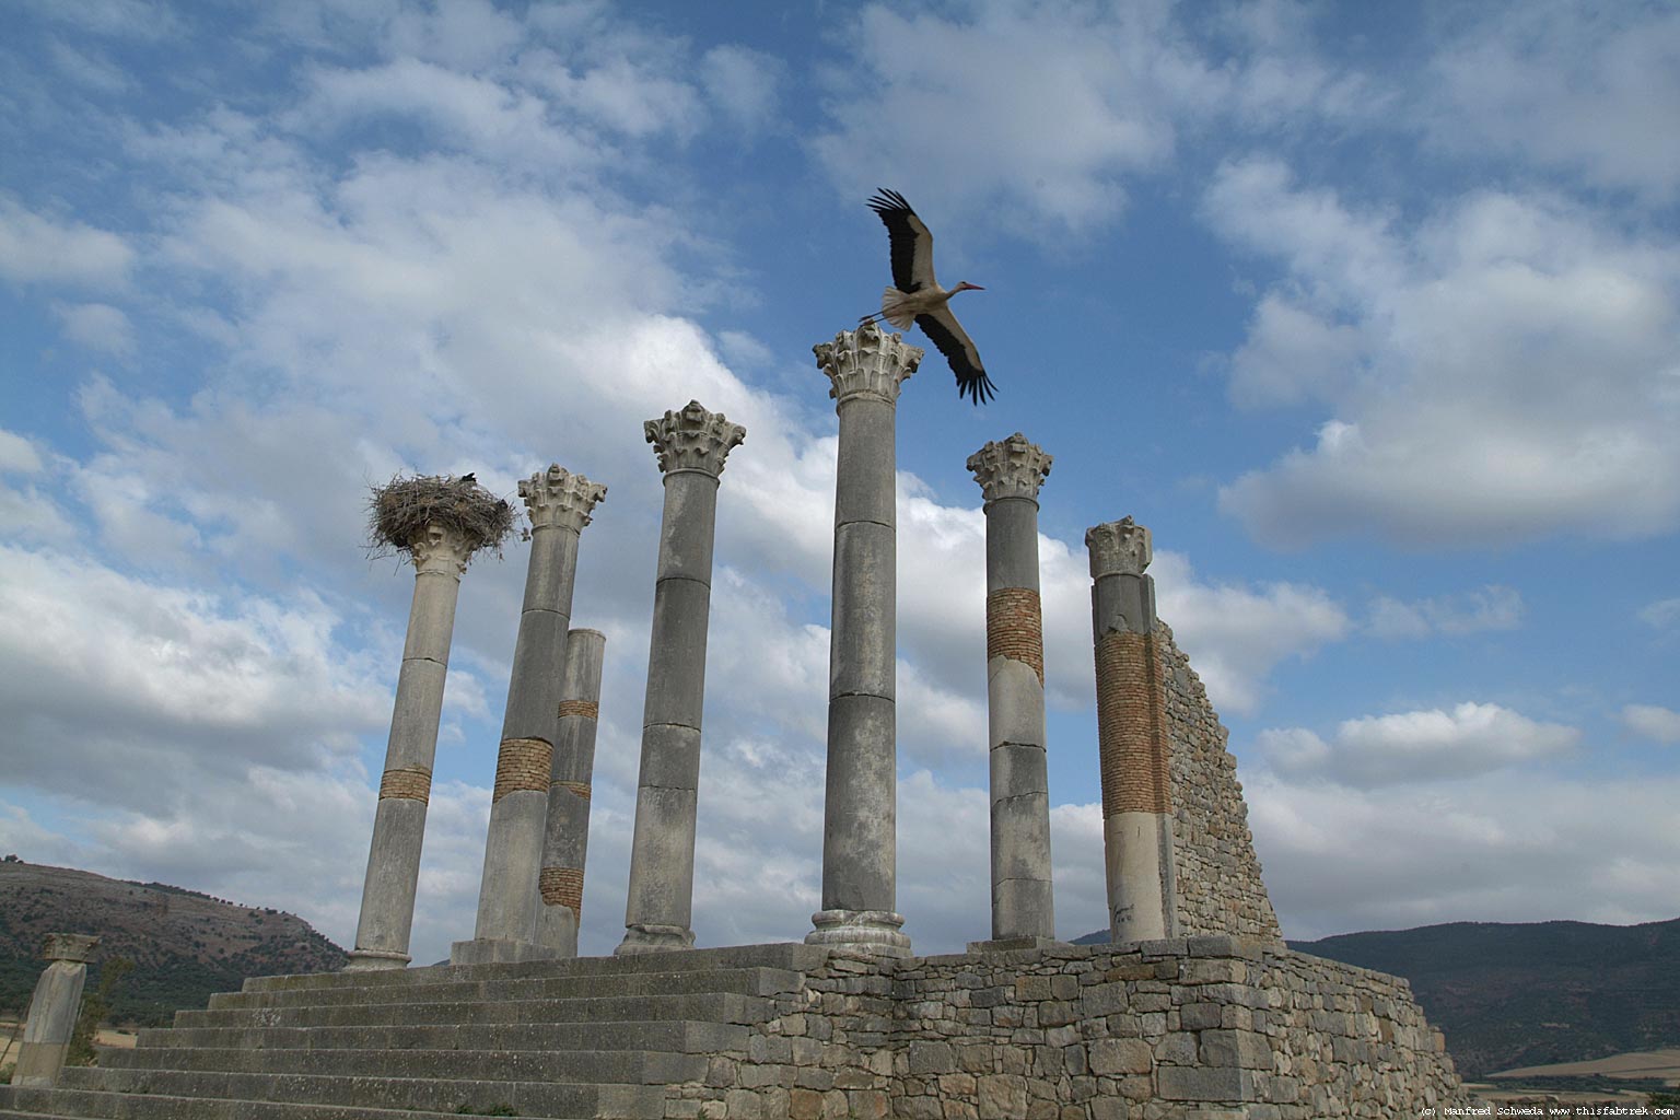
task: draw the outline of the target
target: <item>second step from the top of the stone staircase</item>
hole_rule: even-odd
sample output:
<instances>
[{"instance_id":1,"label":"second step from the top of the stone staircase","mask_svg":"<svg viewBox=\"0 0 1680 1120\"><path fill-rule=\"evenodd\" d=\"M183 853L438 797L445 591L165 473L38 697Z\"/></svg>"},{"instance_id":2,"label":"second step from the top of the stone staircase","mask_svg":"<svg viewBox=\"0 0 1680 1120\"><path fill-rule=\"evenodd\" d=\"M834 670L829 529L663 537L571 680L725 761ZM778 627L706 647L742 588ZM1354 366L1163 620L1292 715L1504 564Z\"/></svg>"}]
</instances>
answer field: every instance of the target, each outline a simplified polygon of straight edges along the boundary
<instances>
[{"instance_id":1,"label":"second step from the top of the stone staircase","mask_svg":"<svg viewBox=\"0 0 1680 1120\"><path fill-rule=\"evenodd\" d=\"M507 966L494 966L507 967ZM222 992L210 997L210 1011L247 1007L334 1007L393 1002L486 1002L504 999L595 999L605 996L680 996L739 992L773 996L793 991L800 972L791 969L743 967L702 972L605 972L585 976L529 976L502 979L449 979L428 984L376 987L302 987L279 991ZM195 1014L195 1013L180 1013ZM180 1026L205 1026L180 1023Z\"/></svg>"}]
</instances>

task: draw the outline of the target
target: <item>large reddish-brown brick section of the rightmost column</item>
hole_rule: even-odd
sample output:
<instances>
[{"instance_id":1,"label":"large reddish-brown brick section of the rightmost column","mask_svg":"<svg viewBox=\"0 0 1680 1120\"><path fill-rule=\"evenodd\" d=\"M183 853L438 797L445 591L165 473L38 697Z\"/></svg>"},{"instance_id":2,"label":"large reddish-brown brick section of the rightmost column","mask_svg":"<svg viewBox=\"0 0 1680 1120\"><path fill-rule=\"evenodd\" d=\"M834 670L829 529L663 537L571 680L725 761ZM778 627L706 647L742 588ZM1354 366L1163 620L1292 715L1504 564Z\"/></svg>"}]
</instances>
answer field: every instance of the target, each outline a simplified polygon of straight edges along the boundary
<instances>
[{"instance_id":1,"label":"large reddish-brown brick section of the rightmost column","mask_svg":"<svg viewBox=\"0 0 1680 1120\"><path fill-rule=\"evenodd\" d=\"M1154 635L1110 630L1097 641L1102 813L1171 813L1169 751Z\"/></svg>"}]
</instances>

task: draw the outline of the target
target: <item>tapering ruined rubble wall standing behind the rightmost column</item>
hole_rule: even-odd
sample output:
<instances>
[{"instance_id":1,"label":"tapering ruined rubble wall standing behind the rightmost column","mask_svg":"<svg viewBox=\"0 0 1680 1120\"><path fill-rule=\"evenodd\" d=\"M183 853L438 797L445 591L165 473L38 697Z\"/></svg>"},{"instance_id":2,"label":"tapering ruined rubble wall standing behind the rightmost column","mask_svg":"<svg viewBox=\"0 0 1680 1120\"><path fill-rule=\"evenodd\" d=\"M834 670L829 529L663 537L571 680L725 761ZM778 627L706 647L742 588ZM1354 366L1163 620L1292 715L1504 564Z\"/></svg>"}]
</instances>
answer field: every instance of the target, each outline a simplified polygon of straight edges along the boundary
<instances>
[{"instance_id":1,"label":"tapering ruined rubble wall standing behind the rightmost column","mask_svg":"<svg viewBox=\"0 0 1680 1120\"><path fill-rule=\"evenodd\" d=\"M1179 934L1282 939L1260 880L1228 732L1166 623L1156 626L1173 777Z\"/></svg>"}]
</instances>

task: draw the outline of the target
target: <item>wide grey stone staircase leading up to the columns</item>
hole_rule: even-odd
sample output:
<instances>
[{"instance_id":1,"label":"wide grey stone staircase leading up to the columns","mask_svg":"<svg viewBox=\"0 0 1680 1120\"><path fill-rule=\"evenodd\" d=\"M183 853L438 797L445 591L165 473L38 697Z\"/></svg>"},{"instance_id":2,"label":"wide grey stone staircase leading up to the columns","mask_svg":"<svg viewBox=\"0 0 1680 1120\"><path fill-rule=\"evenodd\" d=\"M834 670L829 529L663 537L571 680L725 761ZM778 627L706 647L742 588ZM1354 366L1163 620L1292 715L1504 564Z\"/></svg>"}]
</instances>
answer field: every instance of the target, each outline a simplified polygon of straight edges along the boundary
<instances>
[{"instance_id":1,"label":"wide grey stone staircase leading up to the columns","mask_svg":"<svg viewBox=\"0 0 1680 1120\"><path fill-rule=\"evenodd\" d=\"M0 1086L0 1115L664 1120L672 1090L744 1056L825 957L788 944L259 977L57 1088Z\"/></svg>"}]
</instances>

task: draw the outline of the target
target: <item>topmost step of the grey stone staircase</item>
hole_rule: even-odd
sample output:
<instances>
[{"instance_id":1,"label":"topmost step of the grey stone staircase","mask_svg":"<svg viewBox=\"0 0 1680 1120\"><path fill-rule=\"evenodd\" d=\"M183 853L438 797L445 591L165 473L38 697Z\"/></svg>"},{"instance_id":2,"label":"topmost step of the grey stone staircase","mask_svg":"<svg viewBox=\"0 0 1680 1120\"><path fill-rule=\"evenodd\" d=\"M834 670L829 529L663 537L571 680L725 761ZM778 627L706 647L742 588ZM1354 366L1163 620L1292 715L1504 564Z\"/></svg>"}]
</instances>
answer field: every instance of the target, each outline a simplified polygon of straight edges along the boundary
<instances>
[{"instance_id":1,"label":"topmost step of the grey stone staircase","mask_svg":"<svg viewBox=\"0 0 1680 1120\"><path fill-rule=\"evenodd\" d=\"M373 972L311 972L301 976L257 976L245 981L245 992L329 991L336 987L408 987L459 981L512 981L559 976L630 976L637 972L714 972L719 969L771 967L810 972L828 959L828 949L800 942L685 949L628 957L573 957L570 960L522 960L516 964L423 966Z\"/></svg>"}]
</instances>

